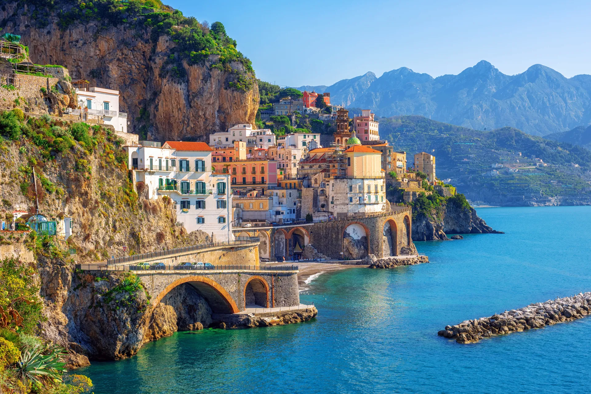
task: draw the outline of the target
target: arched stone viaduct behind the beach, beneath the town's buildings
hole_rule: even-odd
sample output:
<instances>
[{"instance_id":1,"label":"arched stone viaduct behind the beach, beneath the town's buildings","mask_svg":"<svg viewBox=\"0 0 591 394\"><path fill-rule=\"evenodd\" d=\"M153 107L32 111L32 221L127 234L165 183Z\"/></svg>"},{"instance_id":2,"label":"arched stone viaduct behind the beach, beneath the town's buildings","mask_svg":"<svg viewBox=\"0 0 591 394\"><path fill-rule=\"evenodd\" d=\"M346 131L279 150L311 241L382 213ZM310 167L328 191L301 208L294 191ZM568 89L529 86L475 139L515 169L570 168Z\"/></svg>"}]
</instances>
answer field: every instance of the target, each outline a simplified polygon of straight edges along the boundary
<instances>
[{"instance_id":1,"label":"arched stone viaduct behind the beach, beneath the town's buildings","mask_svg":"<svg viewBox=\"0 0 591 394\"><path fill-rule=\"evenodd\" d=\"M278 261L291 260L306 245L331 259L362 259L416 253L410 207L392 206L389 212L350 216L329 222L283 226L234 228L236 236L256 236L259 256Z\"/></svg>"}]
</instances>

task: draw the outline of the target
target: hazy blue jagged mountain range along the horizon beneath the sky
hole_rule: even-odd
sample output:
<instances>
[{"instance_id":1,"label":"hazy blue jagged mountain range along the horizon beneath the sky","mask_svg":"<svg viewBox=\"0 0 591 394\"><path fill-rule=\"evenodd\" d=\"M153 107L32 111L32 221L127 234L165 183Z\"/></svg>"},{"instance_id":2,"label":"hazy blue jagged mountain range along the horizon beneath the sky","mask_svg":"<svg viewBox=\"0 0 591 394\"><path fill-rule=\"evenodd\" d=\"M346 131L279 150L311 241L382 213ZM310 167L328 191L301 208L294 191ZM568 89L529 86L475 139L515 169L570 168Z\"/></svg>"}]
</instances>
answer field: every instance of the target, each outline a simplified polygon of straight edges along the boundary
<instances>
[{"instance_id":1,"label":"hazy blue jagged mountain range along the horizon beneath the sky","mask_svg":"<svg viewBox=\"0 0 591 394\"><path fill-rule=\"evenodd\" d=\"M423 115L477 130L511 126L543 136L591 124L591 75L566 78L541 64L509 76L482 60L437 78L402 67L343 79L324 92L334 104L378 116Z\"/></svg>"}]
</instances>

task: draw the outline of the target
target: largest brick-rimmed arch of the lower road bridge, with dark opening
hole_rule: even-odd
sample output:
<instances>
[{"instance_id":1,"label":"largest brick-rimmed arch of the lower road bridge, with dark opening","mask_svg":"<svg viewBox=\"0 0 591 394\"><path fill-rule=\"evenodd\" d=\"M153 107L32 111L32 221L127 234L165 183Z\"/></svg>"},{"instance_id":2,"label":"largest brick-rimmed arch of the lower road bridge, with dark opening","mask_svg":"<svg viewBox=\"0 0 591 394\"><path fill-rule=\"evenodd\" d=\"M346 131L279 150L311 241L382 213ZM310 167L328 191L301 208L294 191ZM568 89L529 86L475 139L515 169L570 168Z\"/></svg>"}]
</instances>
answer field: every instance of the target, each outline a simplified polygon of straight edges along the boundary
<instances>
[{"instance_id":1,"label":"largest brick-rimmed arch of the lower road bridge, with dark opening","mask_svg":"<svg viewBox=\"0 0 591 394\"><path fill-rule=\"evenodd\" d=\"M233 300L232 296L217 282L212 279L206 278L205 276L185 276L184 278L177 279L158 294L158 297L154 300L153 305L158 305L161 299L168 294L172 289L178 285L188 283L193 286L205 298L209 307L212 308L214 313L237 313L240 310Z\"/></svg>"}]
</instances>

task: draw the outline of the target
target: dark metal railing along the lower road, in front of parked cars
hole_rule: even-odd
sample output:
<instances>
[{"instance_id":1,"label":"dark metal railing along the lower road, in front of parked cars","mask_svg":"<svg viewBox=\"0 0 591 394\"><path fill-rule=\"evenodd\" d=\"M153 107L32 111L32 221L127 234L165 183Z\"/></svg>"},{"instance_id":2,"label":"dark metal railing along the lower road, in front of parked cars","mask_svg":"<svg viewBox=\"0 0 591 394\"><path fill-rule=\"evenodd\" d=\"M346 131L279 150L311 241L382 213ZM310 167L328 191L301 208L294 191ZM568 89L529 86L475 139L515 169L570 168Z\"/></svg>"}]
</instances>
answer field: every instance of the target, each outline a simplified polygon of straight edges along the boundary
<instances>
[{"instance_id":1,"label":"dark metal railing along the lower road, in front of parked cars","mask_svg":"<svg viewBox=\"0 0 591 394\"><path fill-rule=\"evenodd\" d=\"M167 265L164 263L150 265L106 265L76 264L76 269L83 271L213 271L213 270L247 270L247 271L298 271L297 265L256 266L256 265Z\"/></svg>"}]
</instances>

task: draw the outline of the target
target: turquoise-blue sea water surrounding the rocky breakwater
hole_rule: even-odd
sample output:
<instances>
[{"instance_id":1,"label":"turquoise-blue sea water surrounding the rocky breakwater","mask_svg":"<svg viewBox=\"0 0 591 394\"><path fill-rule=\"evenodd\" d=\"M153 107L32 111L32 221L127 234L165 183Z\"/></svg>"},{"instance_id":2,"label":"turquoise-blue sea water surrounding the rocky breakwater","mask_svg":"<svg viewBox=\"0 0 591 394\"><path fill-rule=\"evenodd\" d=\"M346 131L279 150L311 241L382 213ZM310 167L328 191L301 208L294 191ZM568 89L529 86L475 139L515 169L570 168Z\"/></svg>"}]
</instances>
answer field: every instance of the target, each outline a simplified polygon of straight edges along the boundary
<instances>
[{"instance_id":1,"label":"turquoise-blue sea water surrounding the rocky breakwater","mask_svg":"<svg viewBox=\"0 0 591 394\"><path fill-rule=\"evenodd\" d=\"M591 207L489 208L504 235L417 242L431 263L320 275L316 320L176 333L79 370L101 393L586 393L591 317L460 345L446 324L591 291Z\"/></svg>"}]
</instances>

